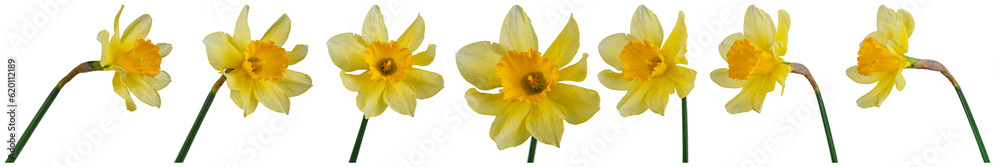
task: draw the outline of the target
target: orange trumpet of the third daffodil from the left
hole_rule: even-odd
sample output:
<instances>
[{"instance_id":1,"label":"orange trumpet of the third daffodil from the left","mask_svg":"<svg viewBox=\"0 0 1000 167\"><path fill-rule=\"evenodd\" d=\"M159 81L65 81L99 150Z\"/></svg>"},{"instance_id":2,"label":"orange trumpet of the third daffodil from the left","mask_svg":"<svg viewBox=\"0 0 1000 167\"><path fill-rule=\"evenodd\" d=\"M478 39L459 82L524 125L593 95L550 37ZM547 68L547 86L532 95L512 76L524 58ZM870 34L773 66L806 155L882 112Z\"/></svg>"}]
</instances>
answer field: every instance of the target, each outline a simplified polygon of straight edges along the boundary
<instances>
[{"instance_id":1,"label":"orange trumpet of the third daffodil from the left","mask_svg":"<svg viewBox=\"0 0 1000 167\"><path fill-rule=\"evenodd\" d=\"M374 81L399 82L406 76L406 70L413 67L410 49L399 46L396 41L374 41L363 56Z\"/></svg>"}]
</instances>

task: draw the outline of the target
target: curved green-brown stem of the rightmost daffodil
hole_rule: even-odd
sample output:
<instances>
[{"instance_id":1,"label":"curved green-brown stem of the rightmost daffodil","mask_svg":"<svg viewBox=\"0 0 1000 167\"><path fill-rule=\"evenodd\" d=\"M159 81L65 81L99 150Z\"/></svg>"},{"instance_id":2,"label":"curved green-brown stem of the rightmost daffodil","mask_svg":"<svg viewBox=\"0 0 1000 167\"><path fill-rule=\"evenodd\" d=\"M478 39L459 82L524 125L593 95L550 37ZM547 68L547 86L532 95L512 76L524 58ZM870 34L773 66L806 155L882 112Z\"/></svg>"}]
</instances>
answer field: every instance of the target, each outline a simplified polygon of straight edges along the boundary
<instances>
[{"instance_id":1,"label":"curved green-brown stem of the rightmost daffodil","mask_svg":"<svg viewBox=\"0 0 1000 167\"><path fill-rule=\"evenodd\" d=\"M969 126L972 127L972 134L975 135L976 144L979 145L979 154L983 156L983 163L990 163L990 156L986 154L986 146L983 144L983 138L979 136L979 128L976 126L976 119L972 117L972 110L969 109L969 103L965 101L965 94L962 93L962 88L958 86L958 81L955 80L955 76L951 75L951 72L948 72L948 68L945 68L940 62L930 59L923 59L913 63L913 68L941 72L945 78L948 78L951 85L955 86L955 92L958 93L958 99L962 101L962 108L965 109L965 117L969 119Z\"/></svg>"}]
</instances>

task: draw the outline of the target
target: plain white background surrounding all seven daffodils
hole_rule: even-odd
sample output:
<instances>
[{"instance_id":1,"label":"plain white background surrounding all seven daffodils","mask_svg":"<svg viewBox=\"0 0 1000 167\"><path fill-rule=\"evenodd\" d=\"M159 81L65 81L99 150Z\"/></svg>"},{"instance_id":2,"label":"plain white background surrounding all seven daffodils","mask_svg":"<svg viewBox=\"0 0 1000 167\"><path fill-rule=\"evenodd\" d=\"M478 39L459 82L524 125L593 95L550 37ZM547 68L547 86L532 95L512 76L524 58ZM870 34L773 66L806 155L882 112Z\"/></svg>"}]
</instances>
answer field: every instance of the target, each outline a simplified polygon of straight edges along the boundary
<instances>
[{"instance_id":1,"label":"plain white background surrounding all seven daffodils","mask_svg":"<svg viewBox=\"0 0 1000 167\"><path fill-rule=\"evenodd\" d=\"M173 79L160 91L162 107L136 101L138 110L128 112L111 89L112 72L80 74L62 90L18 163L4 166L991 166L982 164L962 106L939 73L907 69L904 91L894 90L881 108L856 107L855 100L874 85L854 83L844 71L857 63L858 43L875 31L882 4L913 14L916 28L908 55L949 67L966 91L987 150L994 159L1000 155L1000 114L994 108L1000 101L995 19L1000 2L984 0L7 1L0 5L0 54L18 60L19 128L27 126L66 72L100 58L97 32L112 30L121 4L122 29L148 13L154 20L148 38L174 46L161 65ZM309 74L313 87L291 99L289 115L258 107L246 118L223 87L187 162L173 164L219 77L201 41L212 32L232 33L244 4L250 5L254 39L281 14L291 17L285 47L307 44L310 50L306 61L289 68ZM562 148L539 143L535 164L524 163L527 143L497 150L488 135L493 117L468 108L464 92L472 85L455 65L454 53L462 46L498 40L501 22L515 4L532 18L541 49L573 14L581 32L579 54L591 57L587 80L570 84L601 95L600 112L586 123L566 126ZM622 118L615 105L625 92L605 88L596 77L611 69L600 58L598 43L628 32L640 4L659 16L666 33L679 10L687 15L688 67L699 72L688 104L689 164L680 163L676 95L666 116L646 112ZM785 60L805 64L819 82L840 164L830 164L813 91L800 75L788 77L784 95L771 92L762 113L726 112L724 105L739 90L717 86L708 74L726 66L716 48L725 36L742 31L750 4L771 16L778 9L791 15ZM347 164L362 113L356 93L342 85L325 42L336 34L360 33L372 5L382 7L392 39L418 13L424 17L426 38L419 50L437 44L437 59L418 68L441 74L445 88L419 100L416 117L387 111L369 121L359 163Z\"/></svg>"}]
</instances>

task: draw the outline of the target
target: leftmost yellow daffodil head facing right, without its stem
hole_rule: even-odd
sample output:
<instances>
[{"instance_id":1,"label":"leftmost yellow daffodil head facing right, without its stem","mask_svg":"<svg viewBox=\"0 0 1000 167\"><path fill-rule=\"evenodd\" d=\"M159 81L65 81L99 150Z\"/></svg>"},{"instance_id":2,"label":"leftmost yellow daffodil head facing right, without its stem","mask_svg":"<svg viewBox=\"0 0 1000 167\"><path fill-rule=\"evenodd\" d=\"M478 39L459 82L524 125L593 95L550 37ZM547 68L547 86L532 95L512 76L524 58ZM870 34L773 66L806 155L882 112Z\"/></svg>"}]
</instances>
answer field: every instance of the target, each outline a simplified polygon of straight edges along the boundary
<instances>
[{"instance_id":1,"label":"leftmost yellow daffodil head facing right, without its stem","mask_svg":"<svg viewBox=\"0 0 1000 167\"><path fill-rule=\"evenodd\" d=\"M108 39L108 30L97 33L97 40L104 48L101 53L100 65L104 70L114 70L111 78L115 93L125 99L129 111L135 111L135 102L129 94L150 106L160 107L160 94L157 92L170 84L170 74L160 70L160 61L173 48L168 43L153 44L146 35L153 23L149 14L143 14L132 21L125 31L118 34L118 18L122 15L122 5L115 15L115 34Z\"/></svg>"}]
</instances>

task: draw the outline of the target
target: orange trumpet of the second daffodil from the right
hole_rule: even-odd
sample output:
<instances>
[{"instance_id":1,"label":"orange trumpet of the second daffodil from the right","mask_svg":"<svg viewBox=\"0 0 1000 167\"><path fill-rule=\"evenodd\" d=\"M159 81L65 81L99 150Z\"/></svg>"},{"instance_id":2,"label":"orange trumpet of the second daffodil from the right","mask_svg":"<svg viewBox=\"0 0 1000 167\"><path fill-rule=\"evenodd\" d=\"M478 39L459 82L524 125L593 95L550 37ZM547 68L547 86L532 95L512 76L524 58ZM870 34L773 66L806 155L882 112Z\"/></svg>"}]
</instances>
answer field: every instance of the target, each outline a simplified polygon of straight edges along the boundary
<instances>
[{"instance_id":1,"label":"orange trumpet of the second daffodil from the right","mask_svg":"<svg viewBox=\"0 0 1000 167\"><path fill-rule=\"evenodd\" d=\"M768 74L777 65L771 52L757 49L749 39L737 40L726 54L729 78L747 80L750 75Z\"/></svg>"}]
</instances>

